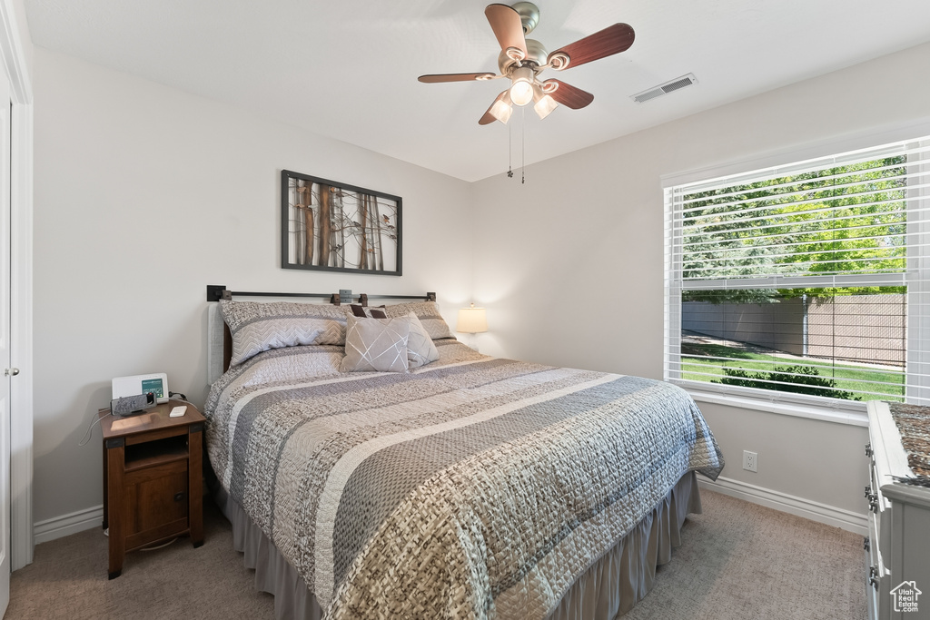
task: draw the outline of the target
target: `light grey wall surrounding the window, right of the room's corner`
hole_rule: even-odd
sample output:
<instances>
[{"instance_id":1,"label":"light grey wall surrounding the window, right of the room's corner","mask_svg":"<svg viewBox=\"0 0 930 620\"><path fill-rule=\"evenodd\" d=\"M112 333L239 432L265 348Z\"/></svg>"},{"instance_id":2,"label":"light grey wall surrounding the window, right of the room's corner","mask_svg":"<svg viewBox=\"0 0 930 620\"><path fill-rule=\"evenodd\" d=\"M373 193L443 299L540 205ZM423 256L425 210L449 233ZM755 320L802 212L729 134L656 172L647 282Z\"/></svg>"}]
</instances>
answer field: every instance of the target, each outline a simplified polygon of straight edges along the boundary
<instances>
[{"instance_id":1,"label":"light grey wall surrounding the window, right of the room's corner","mask_svg":"<svg viewBox=\"0 0 930 620\"><path fill-rule=\"evenodd\" d=\"M504 175L477 182L484 225L475 238L474 297L492 330L481 335L482 350L661 378L662 178L790 162L925 124L930 82L913 78L928 72L930 45L916 46L529 166L525 184ZM724 477L863 512L857 455L865 429L702 408L729 461ZM780 442L769 440L774 432ZM741 469L742 450L760 445L759 472Z\"/></svg>"}]
</instances>

